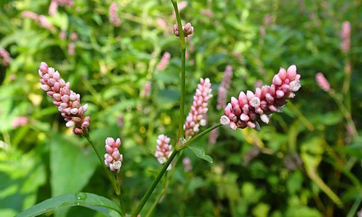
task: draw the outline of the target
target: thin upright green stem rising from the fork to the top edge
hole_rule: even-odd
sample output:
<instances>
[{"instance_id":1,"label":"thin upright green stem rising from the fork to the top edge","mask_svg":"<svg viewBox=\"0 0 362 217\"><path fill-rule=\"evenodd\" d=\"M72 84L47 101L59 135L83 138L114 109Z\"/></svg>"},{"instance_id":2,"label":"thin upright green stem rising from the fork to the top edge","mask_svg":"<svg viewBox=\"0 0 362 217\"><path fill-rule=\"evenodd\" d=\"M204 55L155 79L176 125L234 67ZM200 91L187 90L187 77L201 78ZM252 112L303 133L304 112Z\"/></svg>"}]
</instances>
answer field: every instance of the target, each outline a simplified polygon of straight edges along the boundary
<instances>
[{"instance_id":1,"label":"thin upright green stem rising from the fork to the top edge","mask_svg":"<svg viewBox=\"0 0 362 217\"><path fill-rule=\"evenodd\" d=\"M177 136L176 147L180 145L180 138L183 136L183 122L184 122L184 113L185 113L185 52L186 52L186 40L182 31L182 22L179 13L179 8L177 5L177 0L171 0L174 5L177 25L179 26L180 32L180 47L181 47L181 97L180 97L180 113L179 113L179 130Z\"/></svg>"}]
</instances>

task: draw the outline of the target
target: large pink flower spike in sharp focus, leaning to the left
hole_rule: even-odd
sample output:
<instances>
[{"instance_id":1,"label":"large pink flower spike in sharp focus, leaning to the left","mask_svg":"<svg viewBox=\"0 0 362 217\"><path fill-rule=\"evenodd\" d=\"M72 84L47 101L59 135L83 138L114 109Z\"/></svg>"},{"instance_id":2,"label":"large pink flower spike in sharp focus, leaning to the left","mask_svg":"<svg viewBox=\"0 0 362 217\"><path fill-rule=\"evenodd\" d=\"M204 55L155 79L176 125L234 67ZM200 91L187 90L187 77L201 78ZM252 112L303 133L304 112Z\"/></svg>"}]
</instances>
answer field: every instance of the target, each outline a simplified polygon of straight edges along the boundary
<instances>
[{"instance_id":1,"label":"large pink flower spike in sharp focus, leaning to the left","mask_svg":"<svg viewBox=\"0 0 362 217\"><path fill-rule=\"evenodd\" d=\"M74 127L75 134L83 134L90 125L90 116L84 117L88 105L81 106L81 95L70 90L70 83L60 78L58 71L48 67L44 62L40 64L40 89L53 98L53 104L58 106L67 127Z\"/></svg>"}]
</instances>

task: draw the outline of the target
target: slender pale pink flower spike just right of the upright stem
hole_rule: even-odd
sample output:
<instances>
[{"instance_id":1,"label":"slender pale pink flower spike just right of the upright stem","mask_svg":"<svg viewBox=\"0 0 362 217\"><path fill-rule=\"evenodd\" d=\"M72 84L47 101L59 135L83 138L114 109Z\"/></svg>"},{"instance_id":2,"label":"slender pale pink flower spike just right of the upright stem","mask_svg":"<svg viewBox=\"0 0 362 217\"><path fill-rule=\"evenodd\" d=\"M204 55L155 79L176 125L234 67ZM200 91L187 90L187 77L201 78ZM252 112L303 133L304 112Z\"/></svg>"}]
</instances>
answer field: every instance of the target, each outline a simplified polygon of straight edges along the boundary
<instances>
[{"instance_id":1,"label":"slender pale pink flower spike just right of the upright stem","mask_svg":"<svg viewBox=\"0 0 362 217\"><path fill-rule=\"evenodd\" d=\"M191 109L183 125L186 137L192 137L198 132L200 126L206 125L207 105L211 97L210 79L200 78L200 84L197 85L196 93L193 96Z\"/></svg>"}]
</instances>

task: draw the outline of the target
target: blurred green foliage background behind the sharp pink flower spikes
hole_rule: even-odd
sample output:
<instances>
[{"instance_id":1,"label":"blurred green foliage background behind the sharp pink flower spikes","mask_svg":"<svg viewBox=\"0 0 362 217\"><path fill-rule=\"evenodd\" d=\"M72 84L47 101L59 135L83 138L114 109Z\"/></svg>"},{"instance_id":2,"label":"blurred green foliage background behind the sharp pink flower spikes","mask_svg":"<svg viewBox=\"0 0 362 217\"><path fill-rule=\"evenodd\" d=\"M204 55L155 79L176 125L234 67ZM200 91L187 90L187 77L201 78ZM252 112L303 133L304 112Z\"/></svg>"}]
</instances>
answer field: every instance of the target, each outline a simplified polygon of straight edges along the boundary
<instances>
[{"instance_id":1,"label":"blurred green foliage background behind the sharp pink flower spikes","mask_svg":"<svg viewBox=\"0 0 362 217\"><path fill-rule=\"evenodd\" d=\"M109 0L74 0L74 5L59 5L54 16L48 14L50 0L0 2L0 46L11 56L9 66L0 65L1 217L65 193L83 191L116 200L91 147L71 133L39 89L42 61L88 103L90 135L99 149L106 137L121 138L127 212L161 169L153 156L157 136L164 133L172 144L176 141L181 54L172 32L176 18L171 1L115 2L119 26L109 21ZM195 28L187 39L187 112L199 78L208 77L214 95L208 126L218 122L223 112L216 109L217 89L227 65L233 67L229 97L261 82L270 84L279 67L291 64L302 76L302 88L260 132L221 127L215 144L208 136L197 141L213 157L212 164L185 150L168 174L168 188L153 216L356 216L362 201L362 142L347 132L343 113L319 89L315 74L325 74L361 131L362 1L185 3L181 18ZM44 14L55 30L24 18L25 10ZM351 49L344 53L340 32L346 20L352 27ZM72 40L72 33L78 39ZM72 43L74 53L69 52ZM159 70L165 52L171 54L170 63ZM149 82L147 96L143 91ZM347 93L342 92L344 82L350 84ZM25 124L14 123L18 117L25 117ZM191 171L184 171L183 157L191 159ZM101 216L80 207L49 215Z\"/></svg>"}]
</instances>

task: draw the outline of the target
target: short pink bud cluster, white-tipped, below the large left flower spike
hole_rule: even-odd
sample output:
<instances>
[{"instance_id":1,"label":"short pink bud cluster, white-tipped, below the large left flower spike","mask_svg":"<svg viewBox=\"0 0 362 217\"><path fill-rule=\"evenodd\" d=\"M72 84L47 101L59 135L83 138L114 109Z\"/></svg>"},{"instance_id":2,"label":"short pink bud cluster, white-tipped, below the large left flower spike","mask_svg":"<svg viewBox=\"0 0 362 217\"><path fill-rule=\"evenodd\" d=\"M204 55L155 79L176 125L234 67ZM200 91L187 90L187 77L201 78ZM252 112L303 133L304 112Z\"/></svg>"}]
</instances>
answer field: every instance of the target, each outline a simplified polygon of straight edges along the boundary
<instances>
[{"instance_id":1,"label":"short pink bud cluster, white-tipped, below the large left flower spike","mask_svg":"<svg viewBox=\"0 0 362 217\"><path fill-rule=\"evenodd\" d=\"M109 170L114 172L121 169L123 162L123 155L119 153L119 146L121 145L121 140L117 138L115 141L112 137L107 137L105 139L105 150L107 151L104 154L104 164L109 167Z\"/></svg>"}]
</instances>

